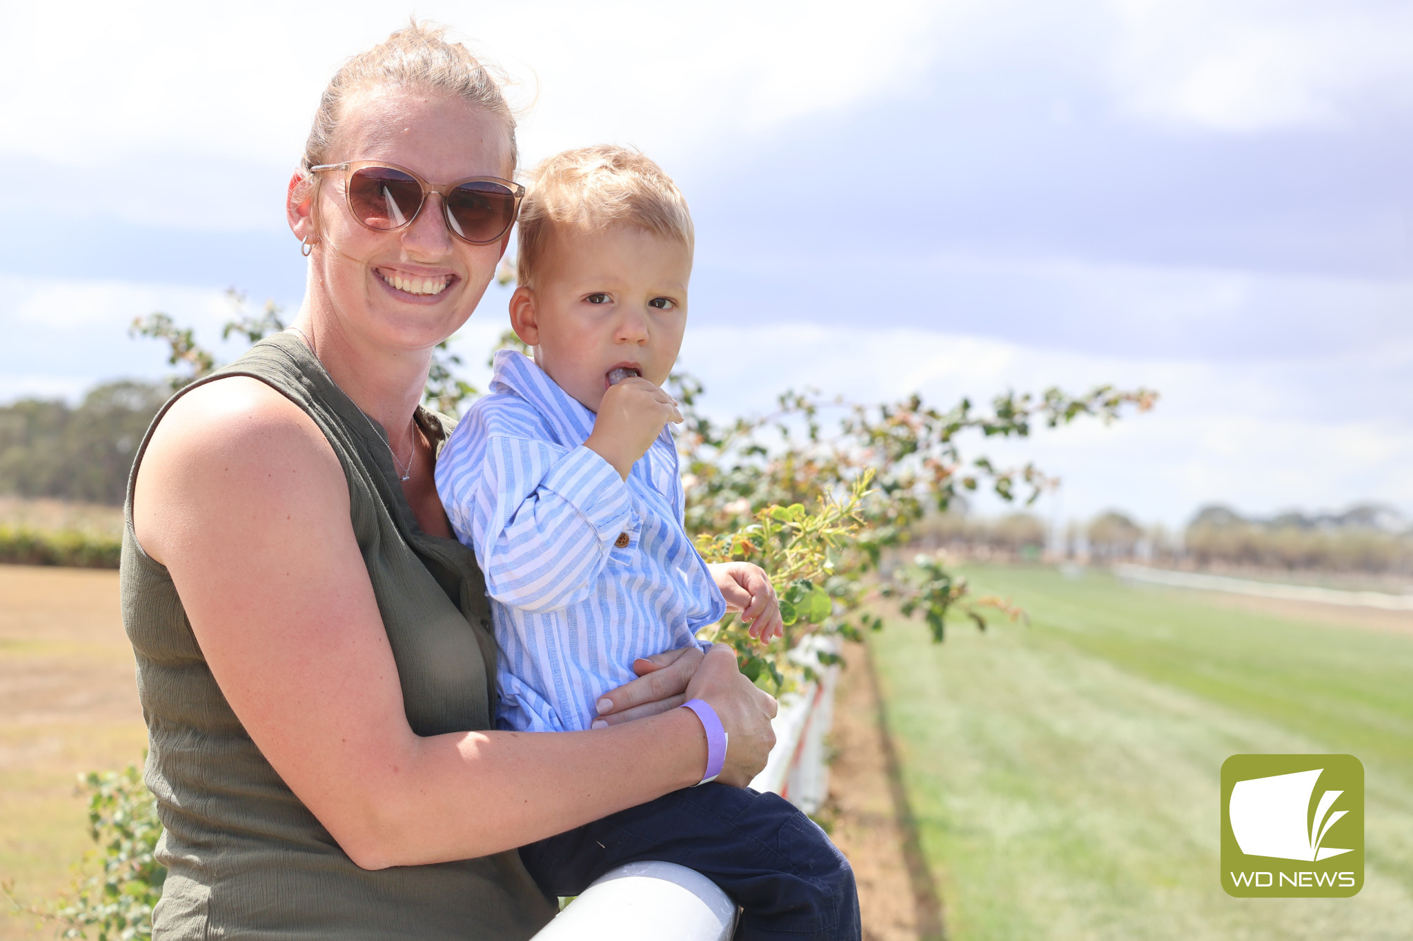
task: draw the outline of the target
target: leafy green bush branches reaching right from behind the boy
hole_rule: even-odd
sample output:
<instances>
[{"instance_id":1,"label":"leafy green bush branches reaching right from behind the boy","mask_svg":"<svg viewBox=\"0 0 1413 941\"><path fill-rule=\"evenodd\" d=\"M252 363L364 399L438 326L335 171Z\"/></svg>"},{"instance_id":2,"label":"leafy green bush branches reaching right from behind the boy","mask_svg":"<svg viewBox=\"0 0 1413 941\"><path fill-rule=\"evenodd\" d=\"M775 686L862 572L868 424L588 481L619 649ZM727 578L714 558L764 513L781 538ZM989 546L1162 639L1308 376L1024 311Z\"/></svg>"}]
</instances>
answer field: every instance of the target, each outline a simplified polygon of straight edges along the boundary
<instances>
[{"instance_id":1,"label":"leafy green bush branches reaching right from behind the boy","mask_svg":"<svg viewBox=\"0 0 1413 941\"><path fill-rule=\"evenodd\" d=\"M1034 464L1007 468L983 456L966 461L958 439L966 432L1029 437L1037 426L1060 427L1082 416L1108 423L1126 408L1145 412L1157 401L1142 388L1099 387L1078 396L1051 388L1039 396L998 395L989 409L961 399L941 411L917 395L868 406L786 392L769 415L719 425L698 408L702 385L694 377L675 374L670 388L685 419L678 446L688 530L709 561L762 566L787 624L800 625L767 650L753 648L733 618L714 635L736 648L747 676L766 677L776 690L798 672L788 655L805 635L856 639L856 625L880 628L882 618L869 611L879 600L894 601L906 617L920 615L938 642L952 609L981 629L993 614L1023 618L1003 598L972 595L941 557L894 564L889 554L911 540L911 528L928 512L944 512L961 492L989 487L1000 499L1024 495L1034 502L1057 482ZM827 433L831 411L841 415Z\"/></svg>"}]
</instances>

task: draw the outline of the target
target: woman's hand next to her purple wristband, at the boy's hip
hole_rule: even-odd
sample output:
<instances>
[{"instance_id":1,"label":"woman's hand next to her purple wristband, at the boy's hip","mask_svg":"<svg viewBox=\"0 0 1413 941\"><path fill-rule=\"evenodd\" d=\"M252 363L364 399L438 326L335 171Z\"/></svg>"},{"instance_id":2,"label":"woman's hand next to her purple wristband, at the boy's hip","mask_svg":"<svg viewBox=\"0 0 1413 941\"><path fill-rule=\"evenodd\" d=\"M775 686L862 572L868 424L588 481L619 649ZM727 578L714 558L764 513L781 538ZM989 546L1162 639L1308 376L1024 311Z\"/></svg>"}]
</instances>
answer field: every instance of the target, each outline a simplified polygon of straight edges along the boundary
<instances>
[{"instance_id":1,"label":"woman's hand next to her purple wristband, at the boy's hip","mask_svg":"<svg viewBox=\"0 0 1413 941\"><path fill-rule=\"evenodd\" d=\"M780 708L776 697L742 676L736 667L736 652L718 643L706 652L687 684L687 698L711 704L731 736L726 763L716 780L732 787L749 784L766 767L770 749L776 746L776 734L770 728L770 720Z\"/></svg>"}]
</instances>

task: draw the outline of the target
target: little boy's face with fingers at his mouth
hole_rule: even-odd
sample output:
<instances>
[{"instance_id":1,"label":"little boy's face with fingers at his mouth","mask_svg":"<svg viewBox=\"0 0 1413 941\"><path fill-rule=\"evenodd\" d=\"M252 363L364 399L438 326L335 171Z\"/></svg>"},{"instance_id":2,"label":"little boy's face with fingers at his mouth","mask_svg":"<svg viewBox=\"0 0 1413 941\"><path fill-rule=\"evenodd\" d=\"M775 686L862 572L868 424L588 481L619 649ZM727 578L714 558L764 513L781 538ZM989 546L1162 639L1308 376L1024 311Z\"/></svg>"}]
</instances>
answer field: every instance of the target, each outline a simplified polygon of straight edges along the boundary
<instances>
[{"instance_id":1,"label":"little boy's face with fingers at his mouth","mask_svg":"<svg viewBox=\"0 0 1413 941\"><path fill-rule=\"evenodd\" d=\"M687 245L637 226L555 229L536 286L516 289L510 322L536 363L598 412L609 372L661 385L687 327ZM622 374L620 374L622 375Z\"/></svg>"}]
</instances>

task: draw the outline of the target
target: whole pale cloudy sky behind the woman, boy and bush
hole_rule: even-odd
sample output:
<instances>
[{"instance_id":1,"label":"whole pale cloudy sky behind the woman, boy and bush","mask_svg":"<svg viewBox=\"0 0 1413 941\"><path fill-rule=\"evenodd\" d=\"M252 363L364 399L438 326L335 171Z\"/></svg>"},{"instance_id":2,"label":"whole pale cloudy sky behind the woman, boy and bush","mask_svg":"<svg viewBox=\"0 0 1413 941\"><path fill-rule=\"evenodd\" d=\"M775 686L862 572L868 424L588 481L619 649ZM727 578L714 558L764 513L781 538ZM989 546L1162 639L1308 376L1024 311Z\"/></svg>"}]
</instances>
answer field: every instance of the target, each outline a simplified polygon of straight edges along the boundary
<instances>
[{"instance_id":1,"label":"whole pale cloudy sky behind the woman, boy and bush","mask_svg":"<svg viewBox=\"0 0 1413 941\"><path fill-rule=\"evenodd\" d=\"M283 189L336 65L414 8L10 4L0 401L160 375L133 316L215 341L298 305ZM514 78L527 159L642 147L698 223L682 363L950 403L1147 385L1142 418L1006 447L1044 512L1181 525L1413 514L1413 7L1383 0L420 3ZM492 291L461 337L479 364ZM995 451L995 449L992 449Z\"/></svg>"}]
</instances>

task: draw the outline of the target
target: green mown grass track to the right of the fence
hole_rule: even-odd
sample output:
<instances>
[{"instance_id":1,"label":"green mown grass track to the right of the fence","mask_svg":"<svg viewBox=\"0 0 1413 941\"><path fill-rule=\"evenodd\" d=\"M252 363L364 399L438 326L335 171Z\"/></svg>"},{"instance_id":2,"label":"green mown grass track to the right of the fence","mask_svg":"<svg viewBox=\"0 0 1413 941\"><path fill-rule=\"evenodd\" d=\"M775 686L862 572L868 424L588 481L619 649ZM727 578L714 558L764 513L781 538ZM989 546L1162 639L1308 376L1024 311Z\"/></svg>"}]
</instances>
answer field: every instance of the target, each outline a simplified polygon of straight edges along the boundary
<instances>
[{"instance_id":1,"label":"green mown grass track to the right of the fence","mask_svg":"<svg viewBox=\"0 0 1413 941\"><path fill-rule=\"evenodd\" d=\"M1102 573L975 567L1030 626L870 638L952 941L1413 937L1413 632L1294 621ZM1219 769L1349 752L1352 899L1232 899Z\"/></svg>"}]
</instances>

